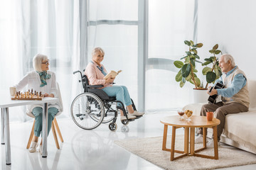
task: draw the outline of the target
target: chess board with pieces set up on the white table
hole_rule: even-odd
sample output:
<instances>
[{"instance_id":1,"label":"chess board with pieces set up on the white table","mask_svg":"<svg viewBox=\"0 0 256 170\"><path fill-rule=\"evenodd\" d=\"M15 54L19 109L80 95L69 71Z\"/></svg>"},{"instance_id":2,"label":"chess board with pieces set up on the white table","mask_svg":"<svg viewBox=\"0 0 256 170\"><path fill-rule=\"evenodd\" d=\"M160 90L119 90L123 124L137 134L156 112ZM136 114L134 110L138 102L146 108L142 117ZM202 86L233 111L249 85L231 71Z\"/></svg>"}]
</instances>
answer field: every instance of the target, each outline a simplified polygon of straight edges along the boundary
<instances>
[{"instance_id":1,"label":"chess board with pieces set up on the white table","mask_svg":"<svg viewBox=\"0 0 256 170\"><path fill-rule=\"evenodd\" d=\"M21 92L16 92L15 96L11 98L11 100L17 100L17 101L41 101L43 99L43 95L40 91L40 93L34 91L33 89Z\"/></svg>"}]
</instances>

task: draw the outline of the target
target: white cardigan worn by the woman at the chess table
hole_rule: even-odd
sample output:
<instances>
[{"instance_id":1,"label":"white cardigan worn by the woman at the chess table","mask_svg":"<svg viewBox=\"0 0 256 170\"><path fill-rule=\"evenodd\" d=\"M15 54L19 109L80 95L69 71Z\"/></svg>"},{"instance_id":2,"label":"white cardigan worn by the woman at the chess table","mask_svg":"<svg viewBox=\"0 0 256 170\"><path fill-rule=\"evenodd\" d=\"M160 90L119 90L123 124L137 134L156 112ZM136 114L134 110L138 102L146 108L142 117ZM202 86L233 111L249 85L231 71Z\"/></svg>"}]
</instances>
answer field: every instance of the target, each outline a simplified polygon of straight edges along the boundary
<instances>
[{"instance_id":1,"label":"white cardigan worn by the woman at the chess table","mask_svg":"<svg viewBox=\"0 0 256 170\"><path fill-rule=\"evenodd\" d=\"M47 85L40 87L41 80L39 74L36 71L28 72L28 74L26 74L26 76L23 77L23 79L21 79L18 84L16 84L16 90L21 91L26 85L28 85L27 89L33 89L33 91L38 91L38 93L41 91L42 94L53 94L55 98L58 98L55 73L47 71L47 74L50 74L50 79L46 79ZM48 108L54 107L60 110L60 107L58 105L58 103L49 103ZM31 105L27 106L27 109L29 112L32 112L33 108L36 107L43 108L43 105Z\"/></svg>"}]
</instances>

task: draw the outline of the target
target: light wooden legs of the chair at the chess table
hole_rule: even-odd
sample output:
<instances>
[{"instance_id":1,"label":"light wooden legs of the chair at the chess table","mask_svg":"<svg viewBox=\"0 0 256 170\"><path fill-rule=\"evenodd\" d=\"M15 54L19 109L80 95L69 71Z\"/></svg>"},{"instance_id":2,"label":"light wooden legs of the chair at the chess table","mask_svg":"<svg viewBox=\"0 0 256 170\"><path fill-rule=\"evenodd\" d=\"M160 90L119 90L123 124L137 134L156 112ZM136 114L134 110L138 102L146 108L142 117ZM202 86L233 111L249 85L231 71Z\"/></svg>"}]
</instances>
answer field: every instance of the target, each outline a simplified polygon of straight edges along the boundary
<instances>
[{"instance_id":1,"label":"light wooden legs of the chair at the chess table","mask_svg":"<svg viewBox=\"0 0 256 170\"><path fill-rule=\"evenodd\" d=\"M29 136L28 145L27 145L26 149L28 149L30 147L30 145L31 145L31 141L32 141L33 135L34 135L35 122L36 122L36 120L34 120L34 122L33 122L33 127L32 127L32 130L31 130L31 135ZM55 145L56 145L57 149L60 149L60 145L58 144L58 138L57 138L57 135L56 135L56 130L57 130L58 135L60 137L60 141L64 142L64 140L63 140L63 137L62 137L62 135L60 133L60 128L58 127L58 123L57 123L56 118L53 119L53 123L52 123L52 128L51 129L53 131L53 137L54 137L54 140L55 140Z\"/></svg>"}]
</instances>

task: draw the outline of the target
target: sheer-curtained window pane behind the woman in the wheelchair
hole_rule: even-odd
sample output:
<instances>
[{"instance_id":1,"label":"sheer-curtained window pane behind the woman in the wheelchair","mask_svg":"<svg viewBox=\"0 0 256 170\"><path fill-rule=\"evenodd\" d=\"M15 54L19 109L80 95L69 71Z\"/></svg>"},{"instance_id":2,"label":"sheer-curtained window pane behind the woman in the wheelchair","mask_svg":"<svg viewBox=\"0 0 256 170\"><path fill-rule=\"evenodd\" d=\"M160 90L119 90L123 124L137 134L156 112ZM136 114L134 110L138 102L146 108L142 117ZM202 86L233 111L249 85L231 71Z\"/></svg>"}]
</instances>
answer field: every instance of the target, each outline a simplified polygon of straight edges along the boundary
<instances>
[{"instance_id":1,"label":"sheer-curtained window pane behind the woman in the wheelchair","mask_svg":"<svg viewBox=\"0 0 256 170\"><path fill-rule=\"evenodd\" d=\"M127 86L137 103L138 0L87 2L87 62L92 49L102 47L102 64L108 72L122 69L114 82Z\"/></svg>"}]
</instances>

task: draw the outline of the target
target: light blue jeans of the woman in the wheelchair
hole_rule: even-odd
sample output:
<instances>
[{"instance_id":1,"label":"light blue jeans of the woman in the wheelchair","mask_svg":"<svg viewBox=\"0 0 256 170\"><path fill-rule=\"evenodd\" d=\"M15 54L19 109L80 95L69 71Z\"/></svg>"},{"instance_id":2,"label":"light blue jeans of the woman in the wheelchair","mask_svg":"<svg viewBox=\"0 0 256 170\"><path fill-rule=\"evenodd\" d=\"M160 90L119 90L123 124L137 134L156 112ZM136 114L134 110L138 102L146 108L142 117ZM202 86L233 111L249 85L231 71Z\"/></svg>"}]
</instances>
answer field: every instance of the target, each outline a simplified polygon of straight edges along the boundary
<instances>
[{"instance_id":1,"label":"light blue jeans of the woman in the wheelchair","mask_svg":"<svg viewBox=\"0 0 256 170\"><path fill-rule=\"evenodd\" d=\"M132 104L129 91L126 86L107 86L102 90L106 92L107 96L116 97L117 101L122 101L125 106ZM119 103L117 105L121 106Z\"/></svg>"}]
</instances>

